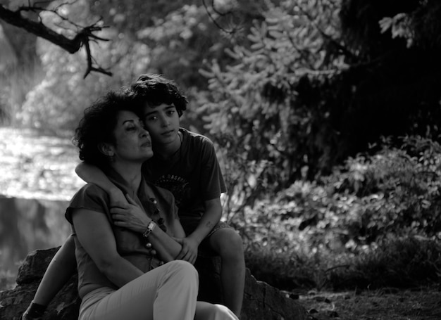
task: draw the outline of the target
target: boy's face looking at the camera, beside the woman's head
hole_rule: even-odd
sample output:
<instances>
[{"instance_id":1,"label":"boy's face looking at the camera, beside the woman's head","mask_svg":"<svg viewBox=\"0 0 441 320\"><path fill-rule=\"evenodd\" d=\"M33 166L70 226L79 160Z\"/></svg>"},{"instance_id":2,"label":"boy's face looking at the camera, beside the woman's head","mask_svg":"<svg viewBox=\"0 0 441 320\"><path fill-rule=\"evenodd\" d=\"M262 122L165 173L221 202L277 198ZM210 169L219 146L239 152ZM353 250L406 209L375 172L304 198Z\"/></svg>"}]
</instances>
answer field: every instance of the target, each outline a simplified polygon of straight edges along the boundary
<instances>
[{"instance_id":1,"label":"boy's face looking at the camera, beside the woman's head","mask_svg":"<svg viewBox=\"0 0 441 320\"><path fill-rule=\"evenodd\" d=\"M144 126L156 145L166 146L180 143L179 115L175 105L163 103L157 106L145 104L143 109Z\"/></svg>"}]
</instances>

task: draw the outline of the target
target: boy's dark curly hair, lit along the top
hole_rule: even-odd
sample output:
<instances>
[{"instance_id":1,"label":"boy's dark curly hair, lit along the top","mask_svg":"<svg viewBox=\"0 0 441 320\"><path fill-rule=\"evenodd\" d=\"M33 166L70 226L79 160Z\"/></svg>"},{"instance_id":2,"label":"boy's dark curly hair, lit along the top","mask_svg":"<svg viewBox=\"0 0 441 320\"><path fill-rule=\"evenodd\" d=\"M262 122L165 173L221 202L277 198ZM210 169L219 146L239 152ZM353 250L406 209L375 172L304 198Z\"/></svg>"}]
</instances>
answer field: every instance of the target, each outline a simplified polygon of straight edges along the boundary
<instances>
[{"instance_id":1,"label":"boy's dark curly hair, lit along the top","mask_svg":"<svg viewBox=\"0 0 441 320\"><path fill-rule=\"evenodd\" d=\"M144 103L151 106L173 103L179 116L187 109L187 97L182 94L175 82L162 75L140 75L129 88L125 89L125 92L134 98L138 106Z\"/></svg>"}]
</instances>

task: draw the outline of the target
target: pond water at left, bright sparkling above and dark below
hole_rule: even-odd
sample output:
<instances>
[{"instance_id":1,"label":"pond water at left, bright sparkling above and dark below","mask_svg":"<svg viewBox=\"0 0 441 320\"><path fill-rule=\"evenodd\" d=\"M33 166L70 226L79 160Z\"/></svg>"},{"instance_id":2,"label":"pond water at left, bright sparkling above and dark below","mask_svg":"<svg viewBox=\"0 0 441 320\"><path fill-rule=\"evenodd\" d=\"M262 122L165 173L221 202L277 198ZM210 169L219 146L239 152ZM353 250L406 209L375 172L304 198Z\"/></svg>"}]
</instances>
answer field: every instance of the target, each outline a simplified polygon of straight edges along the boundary
<instances>
[{"instance_id":1,"label":"pond water at left, bright sparkling above and dark below","mask_svg":"<svg viewBox=\"0 0 441 320\"><path fill-rule=\"evenodd\" d=\"M0 290L28 252L61 245L70 233L63 214L84 184L78 162L70 138L0 127Z\"/></svg>"}]
</instances>

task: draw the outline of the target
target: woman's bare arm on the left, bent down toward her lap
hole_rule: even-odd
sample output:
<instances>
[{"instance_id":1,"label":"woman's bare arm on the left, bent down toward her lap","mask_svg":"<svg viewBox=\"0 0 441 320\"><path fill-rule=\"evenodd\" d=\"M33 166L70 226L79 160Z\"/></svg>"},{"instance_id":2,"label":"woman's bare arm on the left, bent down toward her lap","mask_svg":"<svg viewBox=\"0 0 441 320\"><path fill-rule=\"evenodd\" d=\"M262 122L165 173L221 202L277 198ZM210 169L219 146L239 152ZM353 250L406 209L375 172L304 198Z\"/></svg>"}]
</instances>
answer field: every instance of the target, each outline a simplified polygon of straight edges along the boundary
<instances>
[{"instance_id":1,"label":"woman's bare arm on the left, bent down toward her lap","mask_svg":"<svg viewBox=\"0 0 441 320\"><path fill-rule=\"evenodd\" d=\"M72 219L78 241L92 257L98 269L116 286L124 286L143 274L118 254L115 236L106 215L78 209L73 212Z\"/></svg>"}]
</instances>

